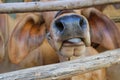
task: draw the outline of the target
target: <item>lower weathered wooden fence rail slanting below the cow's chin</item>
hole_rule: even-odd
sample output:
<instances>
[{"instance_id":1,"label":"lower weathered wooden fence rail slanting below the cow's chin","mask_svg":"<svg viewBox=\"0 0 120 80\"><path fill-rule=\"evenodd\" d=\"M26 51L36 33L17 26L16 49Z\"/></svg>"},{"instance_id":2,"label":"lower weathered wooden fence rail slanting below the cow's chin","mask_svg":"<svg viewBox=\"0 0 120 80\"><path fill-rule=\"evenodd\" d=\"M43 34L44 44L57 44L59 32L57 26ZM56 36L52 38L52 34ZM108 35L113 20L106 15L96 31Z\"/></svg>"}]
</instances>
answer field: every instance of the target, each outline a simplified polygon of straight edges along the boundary
<instances>
[{"instance_id":1,"label":"lower weathered wooden fence rail slanting below the cow's chin","mask_svg":"<svg viewBox=\"0 0 120 80\"><path fill-rule=\"evenodd\" d=\"M62 79L109 67L119 62L120 49L116 49L73 61L3 73L0 74L0 80Z\"/></svg>"}]
</instances>

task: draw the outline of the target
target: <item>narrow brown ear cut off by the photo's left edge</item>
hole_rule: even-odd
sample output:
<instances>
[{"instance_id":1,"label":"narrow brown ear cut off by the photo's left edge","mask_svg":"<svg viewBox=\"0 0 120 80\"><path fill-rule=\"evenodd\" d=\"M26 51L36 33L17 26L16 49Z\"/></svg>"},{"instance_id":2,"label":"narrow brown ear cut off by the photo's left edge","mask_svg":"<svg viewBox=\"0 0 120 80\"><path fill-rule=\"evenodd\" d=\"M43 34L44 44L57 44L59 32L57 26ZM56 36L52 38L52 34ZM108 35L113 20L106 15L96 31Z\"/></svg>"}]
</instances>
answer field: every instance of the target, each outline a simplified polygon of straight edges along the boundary
<instances>
[{"instance_id":1,"label":"narrow brown ear cut off by the photo's left edge","mask_svg":"<svg viewBox=\"0 0 120 80\"><path fill-rule=\"evenodd\" d=\"M7 15L0 14L0 62L4 60L7 38L8 38Z\"/></svg>"}]
</instances>

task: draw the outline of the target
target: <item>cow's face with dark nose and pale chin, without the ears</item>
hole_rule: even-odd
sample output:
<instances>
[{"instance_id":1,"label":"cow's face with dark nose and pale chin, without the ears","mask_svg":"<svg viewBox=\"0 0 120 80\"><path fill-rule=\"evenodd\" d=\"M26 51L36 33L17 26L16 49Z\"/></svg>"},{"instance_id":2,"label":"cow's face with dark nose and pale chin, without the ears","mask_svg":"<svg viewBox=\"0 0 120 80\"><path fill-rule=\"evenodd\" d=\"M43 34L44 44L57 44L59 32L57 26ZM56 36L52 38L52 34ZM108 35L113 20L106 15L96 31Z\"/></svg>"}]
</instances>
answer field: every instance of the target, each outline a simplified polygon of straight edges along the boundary
<instances>
[{"instance_id":1,"label":"cow's face with dark nose and pale chin, without the ears","mask_svg":"<svg viewBox=\"0 0 120 80\"><path fill-rule=\"evenodd\" d=\"M59 55L64 57L80 56L85 47L90 45L89 25L87 19L71 10L44 13L51 17L47 22L47 39Z\"/></svg>"}]
</instances>

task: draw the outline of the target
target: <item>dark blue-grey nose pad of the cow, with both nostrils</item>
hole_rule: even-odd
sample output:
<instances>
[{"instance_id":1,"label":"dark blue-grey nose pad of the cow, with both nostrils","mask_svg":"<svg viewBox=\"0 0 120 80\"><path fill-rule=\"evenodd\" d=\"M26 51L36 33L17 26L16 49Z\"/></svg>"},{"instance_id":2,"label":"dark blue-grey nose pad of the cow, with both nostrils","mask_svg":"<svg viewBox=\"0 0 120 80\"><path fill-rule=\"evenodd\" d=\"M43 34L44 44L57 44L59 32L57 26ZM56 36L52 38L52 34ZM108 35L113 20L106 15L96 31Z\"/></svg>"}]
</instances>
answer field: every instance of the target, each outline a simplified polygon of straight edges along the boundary
<instances>
[{"instance_id":1,"label":"dark blue-grey nose pad of the cow, with both nostrils","mask_svg":"<svg viewBox=\"0 0 120 80\"><path fill-rule=\"evenodd\" d=\"M82 16L66 15L56 19L53 27L56 30L56 34L62 39L83 37L87 22Z\"/></svg>"}]
</instances>

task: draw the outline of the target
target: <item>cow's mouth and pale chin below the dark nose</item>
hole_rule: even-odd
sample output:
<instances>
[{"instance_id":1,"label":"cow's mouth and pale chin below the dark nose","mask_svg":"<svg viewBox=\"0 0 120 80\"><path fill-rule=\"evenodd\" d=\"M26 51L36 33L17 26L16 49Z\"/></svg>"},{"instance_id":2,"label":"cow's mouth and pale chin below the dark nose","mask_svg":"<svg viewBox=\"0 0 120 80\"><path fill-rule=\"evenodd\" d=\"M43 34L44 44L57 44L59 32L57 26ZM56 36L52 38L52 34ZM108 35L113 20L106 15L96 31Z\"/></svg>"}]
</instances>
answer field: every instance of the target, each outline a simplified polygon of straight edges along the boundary
<instances>
[{"instance_id":1,"label":"cow's mouth and pale chin below the dark nose","mask_svg":"<svg viewBox=\"0 0 120 80\"><path fill-rule=\"evenodd\" d=\"M59 54L64 57L81 56L85 50L87 42L83 38L72 38L62 42Z\"/></svg>"}]
</instances>

